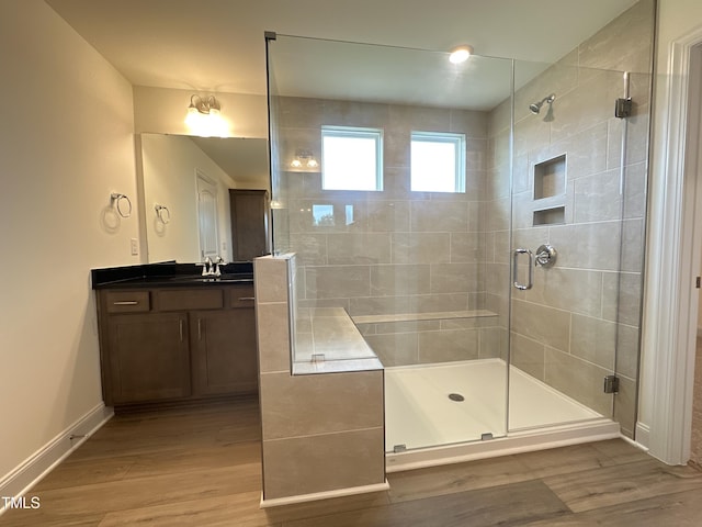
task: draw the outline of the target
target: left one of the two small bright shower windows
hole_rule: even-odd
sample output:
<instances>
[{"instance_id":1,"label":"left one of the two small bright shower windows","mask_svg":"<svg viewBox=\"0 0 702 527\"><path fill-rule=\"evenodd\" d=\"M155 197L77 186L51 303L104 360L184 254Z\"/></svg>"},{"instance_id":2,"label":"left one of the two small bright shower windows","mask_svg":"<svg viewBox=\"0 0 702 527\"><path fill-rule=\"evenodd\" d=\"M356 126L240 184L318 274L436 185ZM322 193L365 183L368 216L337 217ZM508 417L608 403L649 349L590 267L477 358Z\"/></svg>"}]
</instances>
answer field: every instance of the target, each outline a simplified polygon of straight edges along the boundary
<instances>
[{"instance_id":1,"label":"left one of the two small bright shower windows","mask_svg":"<svg viewBox=\"0 0 702 527\"><path fill-rule=\"evenodd\" d=\"M321 127L321 188L383 190L383 131Z\"/></svg>"}]
</instances>

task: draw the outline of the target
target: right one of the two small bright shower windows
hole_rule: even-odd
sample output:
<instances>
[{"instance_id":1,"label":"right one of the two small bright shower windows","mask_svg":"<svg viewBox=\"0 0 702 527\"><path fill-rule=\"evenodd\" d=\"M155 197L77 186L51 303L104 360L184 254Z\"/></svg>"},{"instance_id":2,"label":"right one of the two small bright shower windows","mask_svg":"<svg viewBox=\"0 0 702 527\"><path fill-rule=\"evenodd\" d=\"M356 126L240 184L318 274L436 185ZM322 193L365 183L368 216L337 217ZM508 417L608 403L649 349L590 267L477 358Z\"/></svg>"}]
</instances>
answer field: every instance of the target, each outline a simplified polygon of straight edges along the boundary
<instances>
[{"instance_id":1,"label":"right one of the two small bright shower windows","mask_svg":"<svg viewBox=\"0 0 702 527\"><path fill-rule=\"evenodd\" d=\"M412 132L410 189L465 192L465 135Z\"/></svg>"}]
</instances>

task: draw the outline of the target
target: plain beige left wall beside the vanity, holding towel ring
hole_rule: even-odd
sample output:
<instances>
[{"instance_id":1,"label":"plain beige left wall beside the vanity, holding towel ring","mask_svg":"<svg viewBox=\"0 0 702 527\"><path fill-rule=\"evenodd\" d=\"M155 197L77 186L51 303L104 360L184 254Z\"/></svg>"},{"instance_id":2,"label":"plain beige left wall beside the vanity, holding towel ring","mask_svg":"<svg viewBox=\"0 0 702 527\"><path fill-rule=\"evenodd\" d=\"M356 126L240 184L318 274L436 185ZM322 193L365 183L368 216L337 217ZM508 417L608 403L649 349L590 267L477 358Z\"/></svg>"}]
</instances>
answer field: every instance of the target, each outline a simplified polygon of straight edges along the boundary
<instances>
[{"instance_id":1,"label":"plain beige left wall beside the vanity, holding towel ring","mask_svg":"<svg viewBox=\"0 0 702 527\"><path fill-rule=\"evenodd\" d=\"M90 269L139 257L131 85L42 0L0 2L0 65L1 482L102 403Z\"/></svg>"}]
</instances>

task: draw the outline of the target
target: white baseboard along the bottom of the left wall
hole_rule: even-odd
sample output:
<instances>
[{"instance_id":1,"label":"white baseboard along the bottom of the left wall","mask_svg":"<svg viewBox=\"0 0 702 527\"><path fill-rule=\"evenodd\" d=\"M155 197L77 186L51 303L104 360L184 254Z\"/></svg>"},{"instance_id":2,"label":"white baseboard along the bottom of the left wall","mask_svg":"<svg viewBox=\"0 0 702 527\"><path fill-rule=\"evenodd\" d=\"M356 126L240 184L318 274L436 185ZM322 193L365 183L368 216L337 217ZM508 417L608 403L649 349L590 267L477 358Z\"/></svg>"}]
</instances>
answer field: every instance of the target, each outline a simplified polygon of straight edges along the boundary
<instances>
[{"instance_id":1,"label":"white baseboard along the bottom of the left wall","mask_svg":"<svg viewBox=\"0 0 702 527\"><path fill-rule=\"evenodd\" d=\"M0 480L0 496L23 496L42 478L104 425L114 412L100 403ZM5 505L0 503L0 515Z\"/></svg>"}]
</instances>

